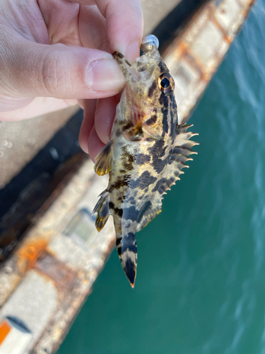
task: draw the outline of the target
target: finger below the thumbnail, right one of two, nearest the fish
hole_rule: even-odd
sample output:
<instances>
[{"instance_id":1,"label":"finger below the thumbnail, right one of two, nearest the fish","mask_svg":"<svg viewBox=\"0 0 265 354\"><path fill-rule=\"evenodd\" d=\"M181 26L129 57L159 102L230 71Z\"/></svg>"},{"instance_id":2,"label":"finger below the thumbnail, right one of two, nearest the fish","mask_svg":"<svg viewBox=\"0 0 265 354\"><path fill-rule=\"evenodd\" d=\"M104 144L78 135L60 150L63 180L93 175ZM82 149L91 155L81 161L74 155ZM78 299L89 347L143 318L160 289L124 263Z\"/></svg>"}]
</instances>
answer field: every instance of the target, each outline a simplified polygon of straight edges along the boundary
<instances>
[{"instance_id":1,"label":"finger below the thumbnail, right one of two, nearest the fish","mask_svg":"<svg viewBox=\"0 0 265 354\"><path fill-rule=\"evenodd\" d=\"M97 109L95 110L95 131L105 144L110 140L118 103L119 95L98 100Z\"/></svg>"}]
</instances>

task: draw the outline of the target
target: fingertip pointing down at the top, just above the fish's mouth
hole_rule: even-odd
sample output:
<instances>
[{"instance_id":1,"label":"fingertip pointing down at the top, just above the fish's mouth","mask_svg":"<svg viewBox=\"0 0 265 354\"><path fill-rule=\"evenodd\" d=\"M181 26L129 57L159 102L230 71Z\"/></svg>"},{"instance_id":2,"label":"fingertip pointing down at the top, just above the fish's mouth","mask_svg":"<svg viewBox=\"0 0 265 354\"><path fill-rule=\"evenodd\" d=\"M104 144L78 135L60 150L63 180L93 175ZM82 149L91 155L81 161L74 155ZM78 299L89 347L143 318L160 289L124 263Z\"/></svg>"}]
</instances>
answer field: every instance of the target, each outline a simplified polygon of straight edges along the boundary
<instances>
[{"instance_id":1,"label":"fingertip pointing down at the top, just above the fish's mouth","mask_svg":"<svg viewBox=\"0 0 265 354\"><path fill-rule=\"evenodd\" d=\"M78 4L91 4L90 0L70 0ZM121 52L129 60L139 56L143 37L143 13L139 0L95 0L107 21L110 50Z\"/></svg>"}]
</instances>

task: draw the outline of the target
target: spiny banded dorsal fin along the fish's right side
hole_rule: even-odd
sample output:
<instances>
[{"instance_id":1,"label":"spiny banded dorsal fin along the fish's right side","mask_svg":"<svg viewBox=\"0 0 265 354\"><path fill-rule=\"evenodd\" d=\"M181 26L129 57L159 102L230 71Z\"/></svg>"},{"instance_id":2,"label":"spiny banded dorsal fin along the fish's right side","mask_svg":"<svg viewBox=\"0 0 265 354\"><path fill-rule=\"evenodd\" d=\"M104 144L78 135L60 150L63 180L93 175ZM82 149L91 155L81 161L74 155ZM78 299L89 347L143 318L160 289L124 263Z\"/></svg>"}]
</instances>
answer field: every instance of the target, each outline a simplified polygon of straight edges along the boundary
<instances>
[{"instance_id":1,"label":"spiny banded dorsal fin along the fish's right side","mask_svg":"<svg viewBox=\"0 0 265 354\"><path fill-rule=\"evenodd\" d=\"M184 173L182 169L184 167L189 167L185 164L186 161L191 161L189 158L191 154L197 154L191 150L194 145L199 145L197 142L192 142L189 140L191 137L198 135L193 132L186 132L186 130L192 127L192 125L182 124L179 125L177 130L177 136L175 137L175 147L172 150L170 156L169 164L165 169L163 178L158 187L158 190L153 196L150 207L144 212L141 221L137 225L137 232L139 232L143 227L145 227L151 220L160 213L162 207L163 194L167 193L167 190L171 188L177 180L179 180L179 175Z\"/></svg>"}]
</instances>

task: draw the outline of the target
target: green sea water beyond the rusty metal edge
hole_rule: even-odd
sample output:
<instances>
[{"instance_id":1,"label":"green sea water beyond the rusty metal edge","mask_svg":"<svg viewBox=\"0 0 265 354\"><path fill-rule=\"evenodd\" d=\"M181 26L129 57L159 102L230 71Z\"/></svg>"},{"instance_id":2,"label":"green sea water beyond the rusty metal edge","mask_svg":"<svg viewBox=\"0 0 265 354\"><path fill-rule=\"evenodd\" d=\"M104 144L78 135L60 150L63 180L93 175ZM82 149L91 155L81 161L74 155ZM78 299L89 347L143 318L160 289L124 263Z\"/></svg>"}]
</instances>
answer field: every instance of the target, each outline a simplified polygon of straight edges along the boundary
<instances>
[{"instance_id":1,"label":"green sea water beyond the rusty metal edge","mask_svg":"<svg viewBox=\"0 0 265 354\"><path fill-rule=\"evenodd\" d=\"M137 235L136 286L116 251L58 354L265 354L265 0L189 122L198 155Z\"/></svg>"}]
</instances>

